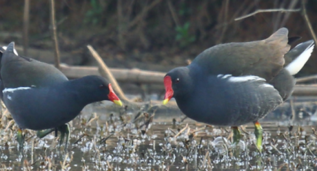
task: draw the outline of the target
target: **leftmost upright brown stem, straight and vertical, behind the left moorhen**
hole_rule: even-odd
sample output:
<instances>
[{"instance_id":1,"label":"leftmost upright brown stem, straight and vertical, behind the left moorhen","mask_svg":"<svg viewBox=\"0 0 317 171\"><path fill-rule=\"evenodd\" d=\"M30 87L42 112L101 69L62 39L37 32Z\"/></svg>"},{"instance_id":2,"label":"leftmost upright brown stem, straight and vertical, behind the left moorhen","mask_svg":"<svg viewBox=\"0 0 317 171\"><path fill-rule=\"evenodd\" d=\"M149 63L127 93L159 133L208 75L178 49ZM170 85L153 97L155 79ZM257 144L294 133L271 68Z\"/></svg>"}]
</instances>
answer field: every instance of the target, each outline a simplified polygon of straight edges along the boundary
<instances>
[{"instance_id":1,"label":"leftmost upright brown stem, straight and vertical, behind the left moorhen","mask_svg":"<svg viewBox=\"0 0 317 171\"><path fill-rule=\"evenodd\" d=\"M24 0L23 12L23 55L28 56L29 47L29 23L30 23L30 0Z\"/></svg>"}]
</instances>

